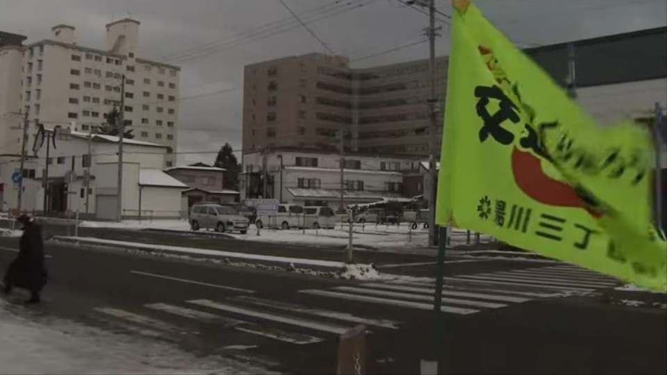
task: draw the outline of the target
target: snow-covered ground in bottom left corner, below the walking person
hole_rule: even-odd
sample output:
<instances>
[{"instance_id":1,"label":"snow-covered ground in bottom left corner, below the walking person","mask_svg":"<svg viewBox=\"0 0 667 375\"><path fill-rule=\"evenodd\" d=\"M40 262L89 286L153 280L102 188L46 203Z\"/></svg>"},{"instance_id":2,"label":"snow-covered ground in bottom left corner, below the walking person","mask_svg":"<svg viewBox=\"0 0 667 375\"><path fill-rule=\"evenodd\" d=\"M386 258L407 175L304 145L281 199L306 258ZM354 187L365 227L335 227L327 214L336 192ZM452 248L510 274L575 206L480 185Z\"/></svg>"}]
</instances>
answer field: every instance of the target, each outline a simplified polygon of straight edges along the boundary
<instances>
[{"instance_id":1,"label":"snow-covered ground in bottom left corner, below the walking person","mask_svg":"<svg viewBox=\"0 0 667 375\"><path fill-rule=\"evenodd\" d=\"M0 374L267 374L237 360L201 358L145 338L64 320L33 321L0 301Z\"/></svg>"}]
</instances>

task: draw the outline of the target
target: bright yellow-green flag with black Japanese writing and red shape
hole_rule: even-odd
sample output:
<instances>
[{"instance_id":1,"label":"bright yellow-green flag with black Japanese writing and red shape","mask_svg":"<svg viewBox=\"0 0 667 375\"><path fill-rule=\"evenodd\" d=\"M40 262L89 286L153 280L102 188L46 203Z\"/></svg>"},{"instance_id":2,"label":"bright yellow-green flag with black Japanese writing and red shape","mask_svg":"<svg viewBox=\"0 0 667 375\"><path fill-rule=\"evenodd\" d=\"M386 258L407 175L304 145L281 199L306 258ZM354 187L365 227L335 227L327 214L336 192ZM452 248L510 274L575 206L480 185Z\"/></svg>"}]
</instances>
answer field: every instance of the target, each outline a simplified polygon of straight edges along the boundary
<instances>
[{"instance_id":1,"label":"bright yellow-green flag with black Japanese writing and red shape","mask_svg":"<svg viewBox=\"0 0 667 375\"><path fill-rule=\"evenodd\" d=\"M454 0L437 223L667 288L645 128L602 128L547 73Z\"/></svg>"}]
</instances>

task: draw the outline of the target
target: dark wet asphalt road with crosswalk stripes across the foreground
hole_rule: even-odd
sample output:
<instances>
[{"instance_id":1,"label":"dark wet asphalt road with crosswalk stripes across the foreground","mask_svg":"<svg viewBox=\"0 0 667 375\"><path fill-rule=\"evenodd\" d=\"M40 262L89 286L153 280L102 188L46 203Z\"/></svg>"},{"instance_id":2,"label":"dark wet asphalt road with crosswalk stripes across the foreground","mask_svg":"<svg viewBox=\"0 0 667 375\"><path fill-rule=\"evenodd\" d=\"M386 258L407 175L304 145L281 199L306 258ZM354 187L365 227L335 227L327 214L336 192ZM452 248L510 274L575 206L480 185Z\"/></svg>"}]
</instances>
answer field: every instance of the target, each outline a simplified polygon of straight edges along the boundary
<instances>
[{"instance_id":1,"label":"dark wet asphalt road with crosswalk stripes across the foreground","mask_svg":"<svg viewBox=\"0 0 667 375\"><path fill-rule=\"evenodd\" d=\"M243 243L277 251L274 244ZM17 239L0 238L0 267L16 247ZM53 243L47 251L51 281L39 314L146 335L200 355L251 358L294 374L332 373L338 335L359 323L370 331L371 373L418 374L432 347L428 280L345 281ZM667 371L665 310L604 303L600 292L617 285L610 278L504 260L446 269L439 353L447 373ZM237 345L249 349L225 349Z\"/></svg>"}]
</instances>

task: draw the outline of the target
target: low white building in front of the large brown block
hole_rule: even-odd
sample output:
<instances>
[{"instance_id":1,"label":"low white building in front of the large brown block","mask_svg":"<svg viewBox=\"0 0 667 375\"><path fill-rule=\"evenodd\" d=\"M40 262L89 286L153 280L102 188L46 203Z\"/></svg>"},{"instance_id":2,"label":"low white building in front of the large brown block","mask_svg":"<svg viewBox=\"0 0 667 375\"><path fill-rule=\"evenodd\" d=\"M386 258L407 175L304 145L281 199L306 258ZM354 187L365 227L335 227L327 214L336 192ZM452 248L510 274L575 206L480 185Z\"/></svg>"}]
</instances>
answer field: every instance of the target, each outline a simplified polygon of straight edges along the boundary
<instances>
[{"instance_id":1,"label":"low white building in front of the large brown block","mask_svg":"<svg viewBox=\"0 0 667 375\"><path fill-rule=\"evenodd\" d=\"M340 156L337 153L290 149L247 153L242 166L244 172L239 178L242 200L267 198L304 206L340 206ZM418 171L419 166L417 159L347 154L343 203L404 198L404 172Z\"/></svg>"}]
</instances>

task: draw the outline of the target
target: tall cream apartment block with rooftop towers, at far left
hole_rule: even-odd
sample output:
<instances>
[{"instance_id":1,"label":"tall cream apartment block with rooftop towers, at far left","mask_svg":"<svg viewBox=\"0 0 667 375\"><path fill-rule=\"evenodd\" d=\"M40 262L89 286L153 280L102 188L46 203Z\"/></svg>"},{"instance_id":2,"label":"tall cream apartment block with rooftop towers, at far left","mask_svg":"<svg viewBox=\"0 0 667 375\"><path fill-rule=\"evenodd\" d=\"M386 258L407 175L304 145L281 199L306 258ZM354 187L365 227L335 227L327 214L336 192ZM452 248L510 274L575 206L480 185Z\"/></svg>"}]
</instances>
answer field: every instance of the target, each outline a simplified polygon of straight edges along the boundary
<instances>
[{"instance_id":1,"label":"tall cream apartment block with rooftop towers, at far left","mask_svg":"<svg viewBox=\"0 0 667 375\"><path fill-rule=\"evenodd\" d=\"M53 38L22 45L13 38L0 45L0 146L4 153L21 147L22 117L54 126L76 122L77 130L97 131L104 115L120 106L136 140L155 142L176 151L179 116L179 71L174 65L139 57L139 25L121 19L106 25L104 48L77 43L74 26L52 28ZM5 38L2 38L5 40ZM172 167L175 155L167 155Z\"/></svg>"}]
</instances>

